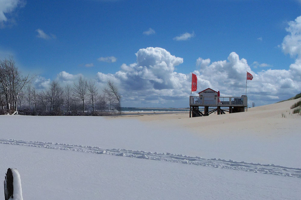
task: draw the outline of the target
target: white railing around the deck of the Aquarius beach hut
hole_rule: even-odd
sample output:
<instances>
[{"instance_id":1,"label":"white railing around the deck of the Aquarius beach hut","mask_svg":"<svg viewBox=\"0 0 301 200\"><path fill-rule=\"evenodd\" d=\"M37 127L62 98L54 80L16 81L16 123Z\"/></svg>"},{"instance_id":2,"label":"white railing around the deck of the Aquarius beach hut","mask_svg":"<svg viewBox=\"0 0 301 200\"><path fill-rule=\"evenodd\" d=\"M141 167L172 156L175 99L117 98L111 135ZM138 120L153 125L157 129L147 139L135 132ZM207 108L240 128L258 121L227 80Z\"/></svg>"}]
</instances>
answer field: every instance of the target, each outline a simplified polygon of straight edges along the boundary
<instances>
[{"instance_id":1,"label":"white railing around the deck of the Aquarius beach hut","mask_svg":"<svg viewBox=\"0 0 301 200\"><path fill-rule=\"evenodd\" d=\"M214 106L247 106L248 98L245 95L240 97L204 97L204 96L190 96L190 105L214 105Z\"/></svg>"}]
</instances>

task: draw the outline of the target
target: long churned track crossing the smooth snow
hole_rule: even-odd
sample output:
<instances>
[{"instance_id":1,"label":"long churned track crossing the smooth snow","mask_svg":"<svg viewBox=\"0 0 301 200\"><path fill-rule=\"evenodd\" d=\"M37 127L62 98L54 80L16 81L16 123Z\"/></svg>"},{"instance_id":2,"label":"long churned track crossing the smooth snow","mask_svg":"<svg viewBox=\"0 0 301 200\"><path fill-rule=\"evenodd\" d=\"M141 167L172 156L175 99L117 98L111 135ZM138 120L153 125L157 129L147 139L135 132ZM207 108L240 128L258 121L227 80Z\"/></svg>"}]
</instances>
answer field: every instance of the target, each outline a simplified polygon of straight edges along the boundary
<instances>
[{"instance_id":1,"label":"long churned track crossing the smooth snow","mask_svg":"<svg viewBox=\"0 0 301 200\"><path fill-rule=\"evenodd\" d=\"M51 142L31 142L31 141L29 142L29 141L14 140L14 139L0 139L0 144L52 148L52 149L69 150L69 151L77 151L77 152L85 152L85 153L125 156L131 158L143 158L149 160L194 164L200 166L210 166L216 168L225 168L225 169L249 171L255 173L275 174L280 176L301 178L301 168L284 167L284 166L279 166L274 164L259 164L259 163L256 164L256 163L236 162L232 160L227 161L227 160L216 159L216 158L206 159L201 157L190 157L182 154L178 155L178 154L157 153L157 152L152 153L152 152L133 151L133 150L114 149L114 148L103 149L103 148L92 147L92 146L59 144L59 143L51 143Z\"/></svg>"}]
</instances>

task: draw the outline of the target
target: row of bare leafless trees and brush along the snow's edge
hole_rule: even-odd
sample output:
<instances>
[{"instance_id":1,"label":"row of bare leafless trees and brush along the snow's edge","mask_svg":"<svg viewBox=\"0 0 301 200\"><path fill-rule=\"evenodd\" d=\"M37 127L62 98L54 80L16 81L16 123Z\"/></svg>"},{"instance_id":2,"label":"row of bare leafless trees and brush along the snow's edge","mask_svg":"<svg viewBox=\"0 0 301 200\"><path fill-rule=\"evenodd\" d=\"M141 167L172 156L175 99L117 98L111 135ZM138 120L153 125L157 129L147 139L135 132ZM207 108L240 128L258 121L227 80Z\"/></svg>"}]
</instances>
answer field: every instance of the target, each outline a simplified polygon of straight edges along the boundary
<instances>
[{"instance_id":1,"label":"row of bare leafless trees and brush along the snow's edge","mask_svg":"<svg viewBox=\"0 0 301 200\"><path fill-rule=\"evenodd\" d=\"M111 81L100 92L95 81L81 76L64 87L54 80L45 90L37 90L33 79L29 74L22 76L11 57L0 60L0 114L111 115L121 111L121 96Z\"/></svg>"}]
</instances>

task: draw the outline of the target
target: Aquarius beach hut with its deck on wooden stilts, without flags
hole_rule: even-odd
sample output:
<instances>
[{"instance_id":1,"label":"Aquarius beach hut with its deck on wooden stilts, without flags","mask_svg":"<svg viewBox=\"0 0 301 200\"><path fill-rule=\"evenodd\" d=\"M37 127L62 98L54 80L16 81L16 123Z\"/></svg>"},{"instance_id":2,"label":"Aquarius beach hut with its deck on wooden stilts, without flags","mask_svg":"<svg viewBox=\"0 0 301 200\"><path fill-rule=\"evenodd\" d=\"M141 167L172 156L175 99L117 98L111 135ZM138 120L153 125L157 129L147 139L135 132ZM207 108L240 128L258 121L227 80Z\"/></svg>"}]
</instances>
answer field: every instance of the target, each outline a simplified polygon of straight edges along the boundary
<instances>
[{"instance_id":1,"label":"Aquarius beach hut with its deck on wooden stilts, without flags","mask_svg":"<svg viewBox=\"0 0 301 200\"><path fill-rule=\"evenodd\" d=\"M248 106L248 98L246 95L240 97L221 97L219 91L207 88L198 93L199 96L190 96L189 99L189 117L208 116L211 113L225 114L225 112L236 113L244 112ZM204 107L204 111L200 111L199 107ZM213 108L209 111L209 107ZM216 107L216 108L215 108ZM221 107L228 107L222 109Z\"/></svg>"}]
</instances>

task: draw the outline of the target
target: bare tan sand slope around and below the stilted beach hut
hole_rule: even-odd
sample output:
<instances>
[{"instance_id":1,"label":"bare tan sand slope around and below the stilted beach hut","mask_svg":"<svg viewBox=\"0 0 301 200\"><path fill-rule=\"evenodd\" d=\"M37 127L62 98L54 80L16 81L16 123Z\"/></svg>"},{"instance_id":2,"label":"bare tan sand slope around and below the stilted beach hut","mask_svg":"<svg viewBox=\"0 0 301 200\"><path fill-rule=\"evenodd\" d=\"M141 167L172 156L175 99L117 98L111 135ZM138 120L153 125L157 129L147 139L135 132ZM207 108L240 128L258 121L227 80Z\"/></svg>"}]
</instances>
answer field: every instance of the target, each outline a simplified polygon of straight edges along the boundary
<instances>
[{"instance_id":1,"label":"bare tan sand slope around and below the stilted beach hut","mask_svg":"<svg viewBox=\"0 0 301 200\"><path fill-rule=\"evenodd\" d=\"M154 124L166 124L166 127L187 128L192 132L202 135L220 135L227 133L239 133L248 131L251 134L271 135L273 130L283 129L284 132L277 131L277 134L285 134L287 131L298 131L301 128L299 114L292 114L290 106L300 101L294 99L290 101L248 108L247 112L226 113L222 115L210 114L205 117L189 118L189 112L166 113L156 112L139 115L126 115L121 117L137 118L141 121Z\"/></svg>"}]
</instances>

